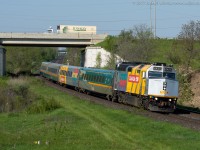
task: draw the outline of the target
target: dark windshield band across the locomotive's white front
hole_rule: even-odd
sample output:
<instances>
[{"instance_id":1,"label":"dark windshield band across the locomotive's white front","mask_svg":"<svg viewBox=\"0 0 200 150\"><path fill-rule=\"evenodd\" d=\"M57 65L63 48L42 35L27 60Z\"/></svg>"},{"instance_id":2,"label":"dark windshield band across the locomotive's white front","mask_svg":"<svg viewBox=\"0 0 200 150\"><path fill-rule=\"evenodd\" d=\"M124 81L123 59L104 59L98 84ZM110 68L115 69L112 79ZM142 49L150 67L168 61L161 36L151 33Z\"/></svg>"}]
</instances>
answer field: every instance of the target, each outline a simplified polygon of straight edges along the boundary
<instances>
[{"instance_id":1,"label":"dark windshield band across the locomotive's white front","mask_svg":"<svg viewBox=\"0 0 200 150\"><path fill-rule=\"evenodd\" d=\"M175 80L175 73L149 71L148 77L149 78L168 78L168 79Z\"/></svg>"}]
</instances>

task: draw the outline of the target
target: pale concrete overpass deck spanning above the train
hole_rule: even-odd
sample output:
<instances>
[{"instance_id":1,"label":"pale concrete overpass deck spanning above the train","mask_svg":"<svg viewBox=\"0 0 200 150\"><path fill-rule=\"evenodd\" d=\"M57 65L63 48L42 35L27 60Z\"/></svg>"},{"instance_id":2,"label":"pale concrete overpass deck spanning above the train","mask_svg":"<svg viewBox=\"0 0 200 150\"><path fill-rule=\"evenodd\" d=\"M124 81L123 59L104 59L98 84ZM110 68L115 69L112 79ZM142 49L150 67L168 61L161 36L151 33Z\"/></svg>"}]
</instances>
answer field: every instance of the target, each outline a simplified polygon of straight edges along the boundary
<instances>
[{"instance_id":1,"label":"pale concrete overpass deck spanning above the train","mask_svg":"<svg viewBox=\"0 0 200 150\"><path fill-rule=\"evenodd\" d=\"M0 33L0 45L86 47L102 42L106 37L106 34Z\"/></svg>"}]
</instances>

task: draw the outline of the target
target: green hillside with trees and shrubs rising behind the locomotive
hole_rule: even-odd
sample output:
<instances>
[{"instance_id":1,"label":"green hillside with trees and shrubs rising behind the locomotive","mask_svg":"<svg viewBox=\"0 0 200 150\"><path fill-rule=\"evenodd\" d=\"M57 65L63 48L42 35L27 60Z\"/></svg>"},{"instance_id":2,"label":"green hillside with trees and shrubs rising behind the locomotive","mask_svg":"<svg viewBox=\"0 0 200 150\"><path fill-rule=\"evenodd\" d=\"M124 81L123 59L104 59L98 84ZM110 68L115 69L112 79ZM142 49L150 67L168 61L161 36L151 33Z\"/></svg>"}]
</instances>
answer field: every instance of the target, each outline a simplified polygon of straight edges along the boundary
<instances>
[{"instance_id":1,"label":"green hillside with trees and shrubs rising behind the locomotive","mask_svg":"<svg viewBox=\"0 0 200 150\"><path fill-rule=\"evenodd\" d=\"M174 39L154 38L146 25L108 36L99 44L127 61L165 62L181 70L200 68L200 22L184 24Z\"/></svg>"}]
</instances>

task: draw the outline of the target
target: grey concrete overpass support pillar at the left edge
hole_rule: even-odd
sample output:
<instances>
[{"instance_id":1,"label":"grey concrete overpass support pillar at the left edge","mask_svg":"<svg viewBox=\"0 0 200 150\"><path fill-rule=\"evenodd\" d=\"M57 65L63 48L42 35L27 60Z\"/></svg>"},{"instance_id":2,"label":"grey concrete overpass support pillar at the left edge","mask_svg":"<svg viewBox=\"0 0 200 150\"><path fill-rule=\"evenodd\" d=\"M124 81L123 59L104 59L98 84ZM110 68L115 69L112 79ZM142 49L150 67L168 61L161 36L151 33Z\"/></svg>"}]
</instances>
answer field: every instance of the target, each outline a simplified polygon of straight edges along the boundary
<instances>
[{"instance_id":1,"label":"grey concrete overpass support pillar at the left edge","mask_svg":"<svg viewBox=\"0 0 200 150\"><path fill-rule=\"evenodd\" d=\"M0 46L0 77L6 75L6 49Z\"/></svg>"}]
</instances>

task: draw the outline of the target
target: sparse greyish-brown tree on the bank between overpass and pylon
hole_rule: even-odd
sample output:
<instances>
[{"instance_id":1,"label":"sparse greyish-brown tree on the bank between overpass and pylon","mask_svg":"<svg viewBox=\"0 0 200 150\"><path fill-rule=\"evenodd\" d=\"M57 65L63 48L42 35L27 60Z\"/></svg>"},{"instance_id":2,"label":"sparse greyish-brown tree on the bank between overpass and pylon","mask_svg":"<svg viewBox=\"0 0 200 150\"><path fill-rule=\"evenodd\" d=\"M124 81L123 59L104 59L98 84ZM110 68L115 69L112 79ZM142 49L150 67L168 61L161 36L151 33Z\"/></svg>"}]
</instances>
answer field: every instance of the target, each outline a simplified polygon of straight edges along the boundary
<instances>
[{"instance_id":1,"label":"sparse greyish-brown tree on the bank between overpass and pylon","mask_svg":"<svg viewBox=\"0 0 200 150\"><path fill-rule=\"evenodd\" d=\"M153 34L146 25L121 31L117 41L117 54L127 61L148 61L153 50Z\"/></svg>"}]
</instances>

